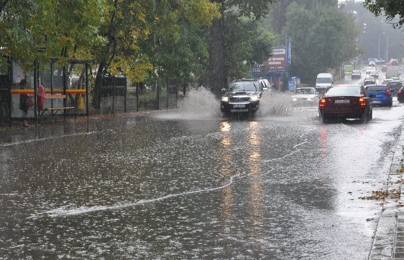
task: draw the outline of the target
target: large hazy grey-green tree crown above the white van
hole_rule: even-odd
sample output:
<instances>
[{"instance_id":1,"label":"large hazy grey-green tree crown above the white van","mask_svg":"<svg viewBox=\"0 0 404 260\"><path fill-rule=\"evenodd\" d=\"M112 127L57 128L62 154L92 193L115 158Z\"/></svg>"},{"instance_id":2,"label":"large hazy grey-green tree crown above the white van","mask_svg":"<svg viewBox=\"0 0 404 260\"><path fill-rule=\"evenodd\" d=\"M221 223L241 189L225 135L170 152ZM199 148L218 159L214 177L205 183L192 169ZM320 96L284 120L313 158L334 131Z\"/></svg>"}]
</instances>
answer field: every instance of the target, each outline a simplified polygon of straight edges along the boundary
<instances>
[{"instance_id":1,"label":"large hazy grey-green tree crown above the white van","mask_svg":"<svg viewBox=\"0 0 404 260\"><path fill-rule=\"evenodd\" d=\"M358 55L359 28L350 15L335 8L308 10L292 3L286 19L284 33L292 42L291 74L300 75L303 82L313 82L318 73Z\"/></svg>"}]
</instances>

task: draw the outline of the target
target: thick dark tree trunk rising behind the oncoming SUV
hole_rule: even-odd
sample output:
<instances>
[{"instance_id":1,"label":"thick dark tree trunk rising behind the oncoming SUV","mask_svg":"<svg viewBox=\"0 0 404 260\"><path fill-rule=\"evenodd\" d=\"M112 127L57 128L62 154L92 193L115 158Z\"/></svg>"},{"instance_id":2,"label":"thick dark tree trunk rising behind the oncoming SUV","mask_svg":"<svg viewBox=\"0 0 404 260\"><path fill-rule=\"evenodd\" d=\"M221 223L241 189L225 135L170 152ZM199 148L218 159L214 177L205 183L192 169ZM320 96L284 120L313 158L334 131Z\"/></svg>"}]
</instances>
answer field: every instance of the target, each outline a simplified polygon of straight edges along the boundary
<instances>
[{"instance_id":1,"label":"thick dark tree trunk rising behind the oncoming SUV","mask_svg":"<svg viewBox=\"0 0 404 260\"><path fill-rule=\"evenodd\" d=\"M227 86L223 21L223 14L220 19L214 19L210 31L210 83L211 91L216 96L219 96L220 90Z\"/></svg>"}]
</instances>

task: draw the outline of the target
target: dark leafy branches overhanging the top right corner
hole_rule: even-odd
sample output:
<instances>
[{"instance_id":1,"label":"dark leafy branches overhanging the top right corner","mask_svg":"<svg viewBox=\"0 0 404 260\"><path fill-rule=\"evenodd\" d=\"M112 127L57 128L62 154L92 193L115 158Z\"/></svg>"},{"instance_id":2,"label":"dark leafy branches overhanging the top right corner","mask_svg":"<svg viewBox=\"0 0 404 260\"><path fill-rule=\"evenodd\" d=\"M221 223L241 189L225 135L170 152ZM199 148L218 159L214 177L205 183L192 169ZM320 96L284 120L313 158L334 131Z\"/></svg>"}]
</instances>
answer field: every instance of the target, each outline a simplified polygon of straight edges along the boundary
<instances>
[{"instance_id":1,"label":"dark leafy branches overhanging the top right corner","mask_svg":"<svg viewBox=\"0 0 404 260\"><path fill-rule=\"evenodd\" d=\"M376 17L384 15L386 21L391 23L394 28L401 27L404 24L404 0L365 0L364 6ZM397 16L398 21L394 21Z\"/></svg>"}]
</instances>

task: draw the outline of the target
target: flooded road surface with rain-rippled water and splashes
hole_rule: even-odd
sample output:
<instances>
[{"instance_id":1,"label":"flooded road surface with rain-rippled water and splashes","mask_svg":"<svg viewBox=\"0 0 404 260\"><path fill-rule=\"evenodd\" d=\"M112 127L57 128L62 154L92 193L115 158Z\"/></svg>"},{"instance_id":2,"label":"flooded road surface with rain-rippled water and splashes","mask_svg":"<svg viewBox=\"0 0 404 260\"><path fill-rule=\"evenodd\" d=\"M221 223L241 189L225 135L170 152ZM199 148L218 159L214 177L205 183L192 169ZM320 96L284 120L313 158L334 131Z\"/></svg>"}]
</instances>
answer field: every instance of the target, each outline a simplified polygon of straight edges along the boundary
<instances>
[{"instance_id":1,"label":"flooded road surface with rain-rippled water and splashes","mask_svg":"<svg viewBox=\"0 0 404 260\"><path fill-rule=\"evenodd\" d=\"M367 258L404 110L368 124L263 99L2 136L0 258ZM265 101L264 101L265 100ZM216 106L216 107L215 107Z\"/></svg>"}]
</instances>

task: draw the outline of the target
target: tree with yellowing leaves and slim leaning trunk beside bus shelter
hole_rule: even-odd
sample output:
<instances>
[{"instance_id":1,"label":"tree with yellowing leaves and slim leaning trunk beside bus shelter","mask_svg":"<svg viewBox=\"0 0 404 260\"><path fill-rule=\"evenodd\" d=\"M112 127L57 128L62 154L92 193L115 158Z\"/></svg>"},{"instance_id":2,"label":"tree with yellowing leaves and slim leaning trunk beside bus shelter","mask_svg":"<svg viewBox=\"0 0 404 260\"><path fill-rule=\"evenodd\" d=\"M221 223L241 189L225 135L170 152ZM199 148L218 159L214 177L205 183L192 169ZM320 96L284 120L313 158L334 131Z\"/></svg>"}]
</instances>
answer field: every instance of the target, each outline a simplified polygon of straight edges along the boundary
<instances>
[{"instance_id":1,"label":"tree with yellowing leaves and slim leaning trunk beside bus shelter","mask_svg":"<svg viewBox=\"0 0 404 260\"><path fill-rule=\"evenodd\" d=\"M162 59L162 46L181 37L181 19L210 25L219 15L218 6L209 0L115 0L106 9L107 19L100 29L106 42L94 50L98 64L94 99L98 100L100 79L107 73L121 72L142 81L150 71L163 72L168 64Z\"/></svg>"}]
</instances>

